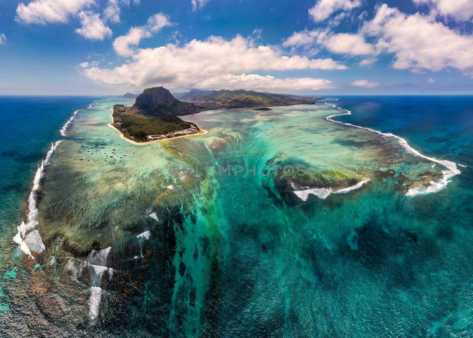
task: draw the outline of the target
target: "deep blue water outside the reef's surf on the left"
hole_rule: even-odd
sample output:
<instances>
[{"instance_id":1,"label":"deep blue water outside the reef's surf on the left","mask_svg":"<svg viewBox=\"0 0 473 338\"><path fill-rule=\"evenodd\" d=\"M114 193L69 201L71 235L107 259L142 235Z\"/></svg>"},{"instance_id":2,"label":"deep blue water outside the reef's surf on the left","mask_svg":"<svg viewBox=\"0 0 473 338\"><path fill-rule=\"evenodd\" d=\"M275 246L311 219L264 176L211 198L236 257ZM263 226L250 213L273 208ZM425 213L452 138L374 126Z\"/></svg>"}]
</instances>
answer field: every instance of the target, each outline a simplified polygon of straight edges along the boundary
<instances>
[{"instance_id":1,"label":"deep blue water outside the reef's surf on the left","mask_svg":"<svg viewBox=\"0 0 473 338\"><path fill-rule=\"evenodd\" d=\"M37 164L61 139L59 130L90 96L0 96L0 232L22 217Z\"/></svg>"}]
</instances>

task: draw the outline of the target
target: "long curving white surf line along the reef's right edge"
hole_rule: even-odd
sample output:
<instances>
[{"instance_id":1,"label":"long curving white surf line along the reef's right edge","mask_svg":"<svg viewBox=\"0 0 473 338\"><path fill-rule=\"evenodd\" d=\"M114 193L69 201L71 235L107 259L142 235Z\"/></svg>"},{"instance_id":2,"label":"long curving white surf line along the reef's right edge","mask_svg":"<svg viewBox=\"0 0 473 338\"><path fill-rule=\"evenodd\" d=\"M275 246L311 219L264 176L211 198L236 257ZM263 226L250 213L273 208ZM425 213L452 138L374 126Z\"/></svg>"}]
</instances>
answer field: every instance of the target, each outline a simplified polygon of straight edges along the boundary
<instances>
[{"instance_id":1,"label":"long curving white surf line along the reef's right edge","mask_svg":"<svg viewBox=\"0 0 473 338\"><path fill-rule=\"evenodd\" d=\"M325 102L325 104L330 104L330 103L327 103ZM332 105L333 107L336 107L335 104L330 104ZM351 112L349 110L346 110L346 109L343 109L343 108L340 108L338 107L338 109L341 109L341 110L344 110L345 112L347 113L343 113L343 114L333 114L333 115L330 115L330 116L327 116L326 119L327 121L331 121L331 122L336 122L336 123L341 123L341 124L344 124L344 125L347 125L347 126L350 126L350 127L355 127L355 128L360 128L360 129L366 129L366 130L369 130L371 132L374 132L378 135L381 135L381 136L388 136L388 137L394 137L395 139L398 139L399 140L399 143L401 144L401 146L406 149L407 151L411 152L412 154L416 155L416 156L419 156L419 157L422 157L422 158L425 158L426 160L429 160L431 162L435 162L435 163L438 163L439 165L443 165L444 167L446 167L448 170L443 170L442 173L443 173L443 179L441 182L434 182L434 181L430 181L430 185L429 187L423 187L425 189L423 189L422 187L414 187L414 188L411 188L407 191L407 194L406 196L414 196L414 195L418 195L418 194L425 194L425 193L429 193L429 192L437 192L443 188L445 188L447 186L447 183L450 182L448 181L448 179L450 177L453 177L459 173L461 173L461 171L456 167L456 163L455 162L451 162L451 161L447 161L447 160L438 160L437 158L435 157L429 157L429 156L425 156L423 154L421 154L418 150L414 149L413 147L411 147L406 139L403 139L402 137L400 136L397 136L397 135L394 135L392 133L384 133L384 132L381 132L381 131L378 131L378 130L374 130L374 129L371 129L371 128L367 128L367 127L361 127L361 126L357 126L355 124L351 124L351 123L344 123L344 122L341 122L341 121L335 121L333 120L332 118L335 117L335 116L342 116L342 115L351 115Z\"/></svg>"}]
</instances>

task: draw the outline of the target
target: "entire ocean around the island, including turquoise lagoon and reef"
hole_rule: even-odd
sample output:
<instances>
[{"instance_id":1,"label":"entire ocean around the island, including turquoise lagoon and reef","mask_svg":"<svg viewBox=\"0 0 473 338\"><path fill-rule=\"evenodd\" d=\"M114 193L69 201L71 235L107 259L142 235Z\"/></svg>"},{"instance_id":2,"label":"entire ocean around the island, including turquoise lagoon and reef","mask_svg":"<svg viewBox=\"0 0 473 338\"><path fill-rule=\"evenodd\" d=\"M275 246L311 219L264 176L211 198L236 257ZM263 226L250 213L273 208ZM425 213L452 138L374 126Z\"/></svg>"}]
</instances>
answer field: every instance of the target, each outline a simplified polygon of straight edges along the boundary
<instances>
[{"instance_id":1,"label":"entire ocean around the island, including turquoise lagoon and reef","mask_svg":"<svg viewBox=\"0 0 473 338\"><path fill-rule=\"evenodd\" d=\"M107 126L132 101L0 97L3 336L473 332L473 96L207 111L139 146Z\"/></svg>"}]
</instances>

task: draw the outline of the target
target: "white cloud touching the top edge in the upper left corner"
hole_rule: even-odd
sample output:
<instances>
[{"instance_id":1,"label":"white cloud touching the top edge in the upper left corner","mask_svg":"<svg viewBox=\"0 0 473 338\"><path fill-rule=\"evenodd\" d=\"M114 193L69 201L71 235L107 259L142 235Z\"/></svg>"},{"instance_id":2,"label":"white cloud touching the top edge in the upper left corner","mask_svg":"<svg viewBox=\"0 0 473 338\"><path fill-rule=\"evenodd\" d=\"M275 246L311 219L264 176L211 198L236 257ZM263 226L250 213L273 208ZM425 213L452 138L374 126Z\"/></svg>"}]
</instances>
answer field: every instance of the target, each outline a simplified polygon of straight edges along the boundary
<instances>
[{"instance_id":1,"label":"white cloud touching the top edge in the upper left corner","mask_svg":"<svg viewBox=\"0 0 473 338\"><path fill-rule=\"evenodd\" d=\"M95 4L95 0L34 0L20 2L15 21L24 24L66 23L71 15Z\"/></svg>"}]
</instances>

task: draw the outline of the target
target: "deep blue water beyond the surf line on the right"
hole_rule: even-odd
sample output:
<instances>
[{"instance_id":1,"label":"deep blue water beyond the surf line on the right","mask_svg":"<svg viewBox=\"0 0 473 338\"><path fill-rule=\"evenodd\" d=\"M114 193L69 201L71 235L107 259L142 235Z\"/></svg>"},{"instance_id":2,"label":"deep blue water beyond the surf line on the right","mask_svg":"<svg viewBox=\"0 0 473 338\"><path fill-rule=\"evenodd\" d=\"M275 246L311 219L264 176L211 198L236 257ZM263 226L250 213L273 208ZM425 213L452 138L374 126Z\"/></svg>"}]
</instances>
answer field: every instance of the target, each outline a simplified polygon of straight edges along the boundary
<instances>
[{"instance_id":1,"label":"deep blue water beyond the surf line on the right","mask_svg":"<svg viewBox=\"0 0 473 338\"><path fill-rule=\"evenodd\" d=\"M473 162L473 96L335 96L338 121L392 132L429 156Z\"/></svg>"}]
</instances>

